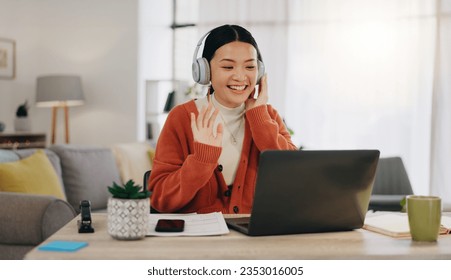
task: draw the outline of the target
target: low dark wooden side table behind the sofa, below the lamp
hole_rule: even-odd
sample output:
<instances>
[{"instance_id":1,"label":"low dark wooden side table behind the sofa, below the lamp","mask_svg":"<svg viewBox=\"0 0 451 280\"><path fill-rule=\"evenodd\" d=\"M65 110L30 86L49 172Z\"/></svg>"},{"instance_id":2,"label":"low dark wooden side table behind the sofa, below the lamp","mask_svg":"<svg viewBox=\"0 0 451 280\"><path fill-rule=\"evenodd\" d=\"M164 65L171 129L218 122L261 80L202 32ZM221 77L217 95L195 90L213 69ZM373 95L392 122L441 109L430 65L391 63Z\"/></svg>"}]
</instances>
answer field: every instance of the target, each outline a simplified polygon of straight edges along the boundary
<instances>
[{"instance_id":1,"label":"low dark wooden side table behind the sofa, below the lamp","mask_svg":"<svg viewBox=\"0 0 451 280\"><path fill-rule=\"evenodd\" d=\"M0 133L0 149L45 148L46 134L34 132Z\"/></svg>"}]
</instances>

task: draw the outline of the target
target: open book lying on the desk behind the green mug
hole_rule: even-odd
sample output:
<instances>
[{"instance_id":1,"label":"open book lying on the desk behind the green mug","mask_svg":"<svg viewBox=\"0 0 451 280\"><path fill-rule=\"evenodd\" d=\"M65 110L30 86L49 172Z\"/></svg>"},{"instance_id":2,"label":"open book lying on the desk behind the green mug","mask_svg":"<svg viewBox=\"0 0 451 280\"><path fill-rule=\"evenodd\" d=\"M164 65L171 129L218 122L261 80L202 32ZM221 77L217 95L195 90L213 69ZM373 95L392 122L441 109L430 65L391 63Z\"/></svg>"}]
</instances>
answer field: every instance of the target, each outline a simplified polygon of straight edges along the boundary
<instances>
[{"instance_id":1,"label":"open book lying on the desk behind the green mug","mask_svg":"<svg viewBox=\"0 0 451 280\"><path fill-rule=\"evenodd\" d=\"M382 213L367 216L363 229L396 238L410 238L409 219L406 213ZM451 233L451 217L443 216L439 234Z\"/></svg>"}]
</instances>

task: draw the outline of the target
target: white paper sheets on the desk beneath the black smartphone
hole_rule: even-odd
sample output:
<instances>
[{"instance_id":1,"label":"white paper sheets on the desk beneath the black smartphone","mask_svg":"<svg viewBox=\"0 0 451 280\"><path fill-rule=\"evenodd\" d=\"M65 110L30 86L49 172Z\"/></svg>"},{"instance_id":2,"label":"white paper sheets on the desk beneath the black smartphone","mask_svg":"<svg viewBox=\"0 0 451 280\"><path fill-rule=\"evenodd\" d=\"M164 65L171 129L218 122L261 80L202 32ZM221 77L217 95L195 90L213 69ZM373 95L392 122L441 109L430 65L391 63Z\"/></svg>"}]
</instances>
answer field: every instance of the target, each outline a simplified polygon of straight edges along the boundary
<instances>
[{"instance_id":1,"label":"white paper sheets on the desk beneath the black smartphone","mask_svg":"<svg viewBox=\"0 0 451 280\"><path fill-rule=\"evenodd\" d=\"M155 226L159 219L185 220L182 232L157 232ZM150 214L147 236L205 236L229 233L229 229L221 212L209 214Z\"/></svg>"}]
</instances>

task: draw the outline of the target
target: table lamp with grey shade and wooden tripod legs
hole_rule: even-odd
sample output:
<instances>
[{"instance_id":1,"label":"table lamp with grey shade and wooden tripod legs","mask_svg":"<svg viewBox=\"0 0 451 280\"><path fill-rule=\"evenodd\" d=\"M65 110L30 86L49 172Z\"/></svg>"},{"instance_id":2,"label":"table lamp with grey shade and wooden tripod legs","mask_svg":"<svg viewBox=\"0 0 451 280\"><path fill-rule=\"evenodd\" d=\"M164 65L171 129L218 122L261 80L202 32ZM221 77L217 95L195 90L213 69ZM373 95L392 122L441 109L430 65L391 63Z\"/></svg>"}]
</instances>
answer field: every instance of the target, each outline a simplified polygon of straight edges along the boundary
<instances>
[{"instance_id":1,"label":"table lamp with grey shade and wooden tripod legs","mask_svg":"<svg viewBox=\"0 0 451 280\"><path fill-rule=\"evenodd\" d=\"M65 140L69 143L69 106L84 103L79 76L58 75L37 78L36 105L52 107L52 144L55 144L56 117L58 108L64 109Z\"/></svg>"}]
</instances>

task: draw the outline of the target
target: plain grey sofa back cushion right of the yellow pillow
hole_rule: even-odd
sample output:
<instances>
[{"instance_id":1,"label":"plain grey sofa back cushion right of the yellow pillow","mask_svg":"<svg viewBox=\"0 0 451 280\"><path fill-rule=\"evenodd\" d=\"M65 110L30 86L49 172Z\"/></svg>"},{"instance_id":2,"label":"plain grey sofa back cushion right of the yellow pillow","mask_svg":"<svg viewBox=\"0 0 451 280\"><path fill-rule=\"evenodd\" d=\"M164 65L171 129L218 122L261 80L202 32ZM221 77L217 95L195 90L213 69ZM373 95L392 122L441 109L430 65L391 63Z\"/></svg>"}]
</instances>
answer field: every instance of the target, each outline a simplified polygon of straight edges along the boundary
<instances>
[{"instance_id":1,"label":"plain grey sofa back cushion right of the yellow pillow","mask_svg":"<svg viewBox=\"0 0 451 280\"><path fill-rule=\"evenodd\" d=\"M81 200L90 200L91 209L105 209L110 197L107 186L119 183L120 176L108 148L55 145L50 147L61 160L67 201L77 213Z\"/></svg>"}]
</instances>

